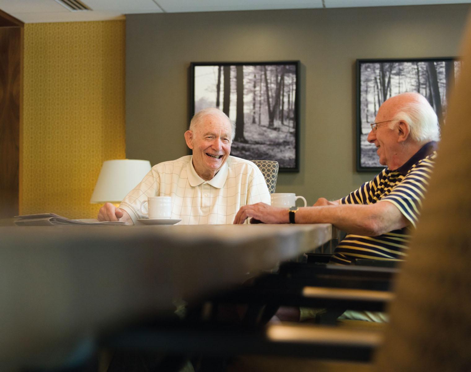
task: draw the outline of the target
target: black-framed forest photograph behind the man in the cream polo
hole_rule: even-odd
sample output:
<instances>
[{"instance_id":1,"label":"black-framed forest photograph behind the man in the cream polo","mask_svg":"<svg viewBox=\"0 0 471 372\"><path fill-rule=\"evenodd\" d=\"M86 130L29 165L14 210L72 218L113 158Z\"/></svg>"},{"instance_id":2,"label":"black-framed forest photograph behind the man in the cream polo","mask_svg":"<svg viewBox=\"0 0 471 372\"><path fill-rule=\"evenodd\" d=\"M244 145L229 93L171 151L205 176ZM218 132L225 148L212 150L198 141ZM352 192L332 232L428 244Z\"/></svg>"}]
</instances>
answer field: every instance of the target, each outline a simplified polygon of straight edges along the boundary
<instances>
[{"instance_id":1,"label":"black-framed forest photograph behind the man in the cream polo","mask_svg":"<svg viewBox=\"0 0 471 372\"><path fill-rule=\"evenodd\" d=\"M299 61L192 62L190 115L217 107L235 122L231 155L299 172Z\"/></svg>"}]
</instances>

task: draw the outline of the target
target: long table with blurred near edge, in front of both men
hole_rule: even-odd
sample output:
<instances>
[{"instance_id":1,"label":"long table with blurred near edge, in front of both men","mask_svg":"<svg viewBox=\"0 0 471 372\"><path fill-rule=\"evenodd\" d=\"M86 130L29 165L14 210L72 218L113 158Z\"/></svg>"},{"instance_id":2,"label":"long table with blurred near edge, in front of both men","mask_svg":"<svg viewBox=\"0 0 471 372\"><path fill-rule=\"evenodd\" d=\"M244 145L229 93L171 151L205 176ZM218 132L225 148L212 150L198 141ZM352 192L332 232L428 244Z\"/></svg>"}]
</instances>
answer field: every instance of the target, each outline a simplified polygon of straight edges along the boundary
<instances>
[{"instance_id":1,"label":"long table with blurred near edge, in front of both men","mask_svg":"<svg viewBox=\"0 0 471 372\"><path fill-rule=\"evenodd\" d=\"M0 360L164 316L174 299L229 289L331 237L330 224L0 227Z\"/></svg>"}]
</instances>

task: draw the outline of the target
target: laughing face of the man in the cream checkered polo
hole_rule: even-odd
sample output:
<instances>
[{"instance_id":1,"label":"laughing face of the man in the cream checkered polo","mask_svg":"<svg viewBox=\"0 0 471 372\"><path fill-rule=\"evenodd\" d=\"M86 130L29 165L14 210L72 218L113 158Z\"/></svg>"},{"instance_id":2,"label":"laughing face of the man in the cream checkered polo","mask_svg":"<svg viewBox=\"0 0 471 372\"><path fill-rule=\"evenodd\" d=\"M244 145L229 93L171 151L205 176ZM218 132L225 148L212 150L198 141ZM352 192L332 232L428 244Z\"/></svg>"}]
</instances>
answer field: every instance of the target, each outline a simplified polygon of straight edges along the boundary
<instances>
[{"instance_id":1,"label":"laughing face of the man in the cream checkered polo","mask_svg":"<svg viewBox=\"0 0 471 372\"><path fill-rule=\"evenodd\" d=\"M193 150L193 166L203 180L211 180L231 152L232 129L225 116L203 116L194 130L185 132L187 146Z\"/></svg>"}]
</instances>

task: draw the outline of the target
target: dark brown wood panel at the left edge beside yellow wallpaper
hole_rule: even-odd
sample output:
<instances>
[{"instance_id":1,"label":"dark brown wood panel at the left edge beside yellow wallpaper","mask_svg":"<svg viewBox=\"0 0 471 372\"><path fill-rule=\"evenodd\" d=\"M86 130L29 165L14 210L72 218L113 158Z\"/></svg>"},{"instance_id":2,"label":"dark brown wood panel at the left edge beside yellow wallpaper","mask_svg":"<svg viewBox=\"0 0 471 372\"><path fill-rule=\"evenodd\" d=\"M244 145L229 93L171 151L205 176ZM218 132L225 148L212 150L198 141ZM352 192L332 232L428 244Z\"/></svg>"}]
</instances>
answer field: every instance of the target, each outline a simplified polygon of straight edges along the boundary
<instances>
[{"instance_id":1,"label":"dark brown wood panel at the left edge beside yellow wallpaper","mask_svg":"<svg viewBox=\"0 0 471 372\"><path fill-rule=\"evenodd\" d=\"M18 214L21 31L0 27L0 218Z\"/></svg>"}]
</instances>

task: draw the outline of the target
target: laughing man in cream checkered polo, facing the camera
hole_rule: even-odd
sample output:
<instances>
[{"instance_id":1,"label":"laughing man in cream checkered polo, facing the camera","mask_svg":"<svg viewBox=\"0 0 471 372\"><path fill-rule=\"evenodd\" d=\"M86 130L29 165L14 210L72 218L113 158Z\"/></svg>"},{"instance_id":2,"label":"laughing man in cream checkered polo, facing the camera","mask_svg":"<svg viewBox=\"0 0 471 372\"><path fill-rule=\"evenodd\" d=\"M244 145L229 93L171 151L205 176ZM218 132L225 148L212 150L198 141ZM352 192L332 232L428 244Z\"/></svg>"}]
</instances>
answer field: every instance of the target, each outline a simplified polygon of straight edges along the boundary
<instances>
[{"instance_id":1,"label":"laughing man in cream checkered polo, facing the camera","mask_svg":"<svg viewBox=\"0 0 471 372\"><path fill-rule=\"evenodd\" d=\"M98 220L137 223L145 217L141 204L151 196L170 196L171 218L181 218L180 224L229 224L240 207L269 203L268 187L257 165L229 156L234 135L235 125L222 111L199 111L185 132L193 155L154 165L119 208L111 203L101 207Z\"/></svg>"}]
</instances>

